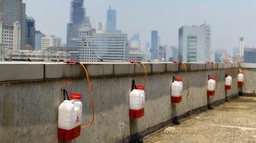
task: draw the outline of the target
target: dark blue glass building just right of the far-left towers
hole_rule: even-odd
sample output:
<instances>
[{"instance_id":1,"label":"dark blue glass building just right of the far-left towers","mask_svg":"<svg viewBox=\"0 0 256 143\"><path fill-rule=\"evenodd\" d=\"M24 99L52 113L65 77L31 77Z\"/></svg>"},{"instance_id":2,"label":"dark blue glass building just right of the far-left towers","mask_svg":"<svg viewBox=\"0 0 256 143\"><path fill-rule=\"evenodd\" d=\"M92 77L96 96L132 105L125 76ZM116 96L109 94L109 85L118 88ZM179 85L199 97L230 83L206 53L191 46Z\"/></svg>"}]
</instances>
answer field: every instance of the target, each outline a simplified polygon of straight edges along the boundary
<instances>
[{"instance_id":1,"label":"dark blue glass building just right of the far-left towers","mask_svg":"<svg viewBox=\"0 0 256 143\"><path fill-rule=\"evenodd\" d=\"M35 30L34 18L27 16L25 45L32 46L32 49L35 49Z\"/></svg>"}]
</instances>

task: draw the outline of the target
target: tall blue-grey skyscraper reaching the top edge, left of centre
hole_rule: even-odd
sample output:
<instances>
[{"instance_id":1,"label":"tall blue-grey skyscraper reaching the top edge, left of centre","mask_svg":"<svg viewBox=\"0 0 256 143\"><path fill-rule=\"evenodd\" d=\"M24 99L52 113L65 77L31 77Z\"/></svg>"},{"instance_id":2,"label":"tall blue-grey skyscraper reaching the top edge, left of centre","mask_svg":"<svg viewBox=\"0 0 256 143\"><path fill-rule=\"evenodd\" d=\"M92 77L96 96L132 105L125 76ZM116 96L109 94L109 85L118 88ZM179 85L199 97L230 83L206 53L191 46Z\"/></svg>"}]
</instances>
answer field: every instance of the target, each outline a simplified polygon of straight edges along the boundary
<instances>
[{"instance_id":1,"label":"tall blue-grey skyscraper reaching the top edge, left of centre","mask_svg":"<svg viewBox=\"0 0 256 143\"><path fill-rule=\"evenodd\" d=\"M67 25L67 46L78 47L79 28L85 22L84 0L73 0L70 3L70 22Z\"/></svg>"}]
</instances>

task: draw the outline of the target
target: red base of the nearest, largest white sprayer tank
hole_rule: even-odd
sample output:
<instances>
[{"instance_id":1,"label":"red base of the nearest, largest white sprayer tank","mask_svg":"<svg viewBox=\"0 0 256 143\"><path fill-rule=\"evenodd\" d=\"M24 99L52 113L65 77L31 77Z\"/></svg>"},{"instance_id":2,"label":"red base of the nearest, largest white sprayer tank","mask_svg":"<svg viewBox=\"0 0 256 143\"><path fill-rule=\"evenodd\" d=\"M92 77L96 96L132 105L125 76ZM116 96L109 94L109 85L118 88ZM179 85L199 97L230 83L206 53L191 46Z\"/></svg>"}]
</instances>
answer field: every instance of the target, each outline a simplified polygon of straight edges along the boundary
<instances>
[{"instance_id":1,"label":"red base of the nearest, largest white sprayer tank","mask_svg":"<svg viewBox=\"0 0 256 143\"><path fill-rule=\"evenodd\" d=\"M81 133L81 126L77 126L73 129L58 129L58 138L62 141L71 141L74 138L77 138Z\"/></svg>"}]
</instances>

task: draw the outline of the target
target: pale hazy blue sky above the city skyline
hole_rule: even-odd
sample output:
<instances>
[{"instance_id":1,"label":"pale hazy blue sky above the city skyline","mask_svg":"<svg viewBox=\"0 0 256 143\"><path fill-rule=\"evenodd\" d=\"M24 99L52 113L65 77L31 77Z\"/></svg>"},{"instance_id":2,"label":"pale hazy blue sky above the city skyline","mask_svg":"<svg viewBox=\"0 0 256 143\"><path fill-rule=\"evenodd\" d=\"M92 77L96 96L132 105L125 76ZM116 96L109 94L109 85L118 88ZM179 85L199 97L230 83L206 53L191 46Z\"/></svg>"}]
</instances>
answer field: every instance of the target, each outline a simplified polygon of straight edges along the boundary
<instances>
[{"instance_id":1,"label":"pale hazy blue sky above the city skyline","mask_svg":"<svg viewBox=\"0 0 256 143\"><path fill-rule=\"evenodd\" d=\"M26 13L34 17L36 30L62 37L66 43L71 0L23 0ZM107 20L109 5L117 11L117 29L132 37L139 32L145 44L151 30L158 30L162 45L178 46L178 28L183 25L209 24L212 28L211 49L238 47L239 37L245 46L256 46L255 0L85 0L86 16ZM232 53L231 53L232 54Z\"/></svg>"}]
</instances>

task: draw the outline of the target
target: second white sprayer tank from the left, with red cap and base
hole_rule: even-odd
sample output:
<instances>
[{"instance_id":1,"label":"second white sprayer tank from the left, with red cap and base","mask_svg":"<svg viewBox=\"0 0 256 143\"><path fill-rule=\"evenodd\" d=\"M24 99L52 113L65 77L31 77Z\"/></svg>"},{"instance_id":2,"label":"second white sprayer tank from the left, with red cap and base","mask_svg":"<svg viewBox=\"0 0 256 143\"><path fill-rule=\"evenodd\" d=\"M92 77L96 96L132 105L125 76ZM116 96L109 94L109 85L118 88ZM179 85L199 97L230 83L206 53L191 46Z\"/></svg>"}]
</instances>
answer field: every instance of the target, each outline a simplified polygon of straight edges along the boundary
<instances>
[{"instance_id":1,"label":"second white sprayer tank from the left, with red cap and base","mask_svg":"<svg viewBox=\"0 0 256 143\"><path fill-rule=\"evenodd\" d=\"M144 116L145 92L143 86L136 86L130 92L130 118L140 118Z\"/></svg>"}]
</instances>

